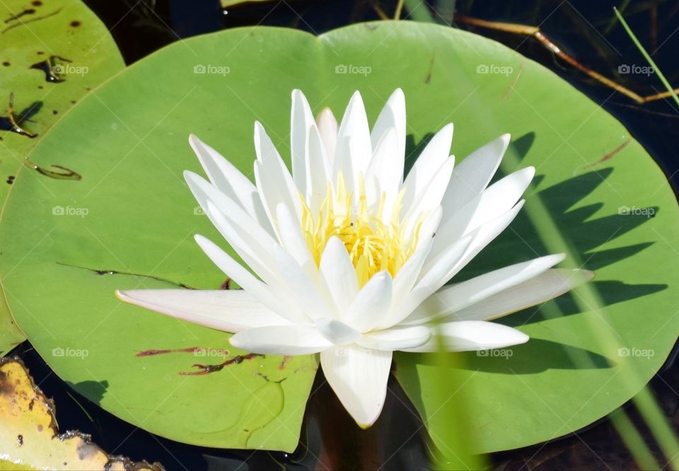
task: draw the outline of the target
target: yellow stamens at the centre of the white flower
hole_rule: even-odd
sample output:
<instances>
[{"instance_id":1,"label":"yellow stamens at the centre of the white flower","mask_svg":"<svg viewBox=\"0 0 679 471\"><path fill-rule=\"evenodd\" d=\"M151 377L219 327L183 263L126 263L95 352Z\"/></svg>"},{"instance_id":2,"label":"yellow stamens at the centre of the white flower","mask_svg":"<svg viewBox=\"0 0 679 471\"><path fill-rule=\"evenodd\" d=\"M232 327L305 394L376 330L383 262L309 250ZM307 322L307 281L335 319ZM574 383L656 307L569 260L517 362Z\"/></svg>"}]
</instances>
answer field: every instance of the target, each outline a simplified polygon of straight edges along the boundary
<instances>
[{"instance_id":1,"label":"yellow stamens at the centre of the white flower","mask_svg":"<svg viewBox=\"0 0 679 471\"><path fill-rule=\"evenodd\" d=\"M417 236L424 216L420 217L407 237L407 219L400 220L400 209L405 189L395 199L388 223L383 222L386 194L383 193L377 208L368 208L365 182L359 175L358 204L353 204L354 193L347 193L342 173L337 176L336 192L330 182L318 214L314 215L306 200L300 195L302 233L309 251L318 266L325 245L332 236L340 238L347 248L356 269L359 286L364 286L378 272L388 270L395 276L417 248Z\"/></svg>"}]
</instances>

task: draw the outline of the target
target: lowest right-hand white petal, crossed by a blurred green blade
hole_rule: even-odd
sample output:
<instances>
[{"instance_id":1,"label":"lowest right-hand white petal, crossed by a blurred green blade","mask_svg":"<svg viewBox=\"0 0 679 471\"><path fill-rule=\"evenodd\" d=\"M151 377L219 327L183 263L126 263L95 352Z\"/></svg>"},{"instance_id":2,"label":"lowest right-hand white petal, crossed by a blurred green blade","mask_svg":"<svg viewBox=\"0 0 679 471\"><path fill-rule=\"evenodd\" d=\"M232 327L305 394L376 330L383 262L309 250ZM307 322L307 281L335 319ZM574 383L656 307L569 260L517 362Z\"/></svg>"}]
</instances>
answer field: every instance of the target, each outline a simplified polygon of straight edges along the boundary
<instances>
[{"instance_id":1,"label":"lowest right-hand white petal, crossed by a blurred green blade","mask_svg":"<svg viewBox=\"0 0 679 471\"><path fill-rule=\"evenodd\" d=\"M463 320L431 327L429 342L404 350L438 351L441 344L445 351L487 350L511 347L526 342L528 342L528 335L512 327L483 320Z\"/></svg>"}]
</instances>

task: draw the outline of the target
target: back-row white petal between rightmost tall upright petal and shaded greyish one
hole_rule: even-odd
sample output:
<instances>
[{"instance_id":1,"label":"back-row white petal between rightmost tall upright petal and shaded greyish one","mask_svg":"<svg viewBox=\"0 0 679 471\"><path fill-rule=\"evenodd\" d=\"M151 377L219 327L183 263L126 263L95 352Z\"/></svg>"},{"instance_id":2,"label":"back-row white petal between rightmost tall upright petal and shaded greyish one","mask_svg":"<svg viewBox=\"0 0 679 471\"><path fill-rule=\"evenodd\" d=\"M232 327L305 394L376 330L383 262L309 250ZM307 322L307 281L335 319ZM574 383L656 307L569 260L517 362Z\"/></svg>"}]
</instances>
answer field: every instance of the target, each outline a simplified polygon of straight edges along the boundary
<instances>
[{"instance_id":1,"label":"back-row white petal between rightmost tall upright petal and shaded greyish one","mask_svg":"<svg viewBox=\"0 0 679 471\"><path fill-rule=\"evenodd\" d=\"M404 207L410 207L417 194L426 188L426 184L434 177L436 170L439 170L451 155L452 142L453 124L446 124L426 144L403 183L403 186L407 188L403 199Z\"/></svg>"}]
</instances>

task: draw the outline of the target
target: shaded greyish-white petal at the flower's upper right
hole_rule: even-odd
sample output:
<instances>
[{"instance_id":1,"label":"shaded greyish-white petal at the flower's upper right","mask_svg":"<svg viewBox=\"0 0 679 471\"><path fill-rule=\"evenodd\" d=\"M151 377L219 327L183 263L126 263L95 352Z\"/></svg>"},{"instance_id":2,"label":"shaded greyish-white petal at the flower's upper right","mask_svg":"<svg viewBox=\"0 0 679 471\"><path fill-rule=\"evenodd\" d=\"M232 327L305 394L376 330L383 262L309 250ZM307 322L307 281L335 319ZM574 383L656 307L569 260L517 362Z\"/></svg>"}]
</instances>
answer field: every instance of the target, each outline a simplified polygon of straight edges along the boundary
<instances>
[{"instance_id":1,"label":"shaded greyish-white petal at the flower's upper right","mask_svg":"<svg viewBox=\"0 0 679 471\"><path fill-rule=\"evenodd\" d=\"M507 146L509 146L509 134L503 134L470 153L458 164L453 172L451 185L448 187L446 196L443 197L444 210L448 207L460 207L470 202L487 187L500 165Z\"/></svg>"}]
</instances>

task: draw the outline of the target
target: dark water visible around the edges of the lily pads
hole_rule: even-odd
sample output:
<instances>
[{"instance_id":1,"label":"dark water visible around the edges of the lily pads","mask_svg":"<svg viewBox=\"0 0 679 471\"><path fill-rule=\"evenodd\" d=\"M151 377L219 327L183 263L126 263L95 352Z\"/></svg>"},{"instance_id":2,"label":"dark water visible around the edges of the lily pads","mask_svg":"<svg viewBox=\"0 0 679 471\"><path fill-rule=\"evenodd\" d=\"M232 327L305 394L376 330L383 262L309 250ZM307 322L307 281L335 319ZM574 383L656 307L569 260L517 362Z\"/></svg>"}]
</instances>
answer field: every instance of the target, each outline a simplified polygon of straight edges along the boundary
<instances>
[{"instance_id":1,"label":"dark water visible around the edges of the lily pads","mask_svg":"<svg viewBox=\"0 0 679 471\"><path fill-rule=\"evenodd\" d=\"M320 34L358 21L379 20L380 11L393 16L393 0L288 0L251 2L224 10L219 1L208 0L86 0L111 30L128 64L181 40L224 28L247 25L278 25ZM416 2L417 4L417 2ZM664 91L657 76L620 74L623 64L645 66L646 62L619 23L613 21L613 6L623 9L625 18L637 33L670 83L679 86L679 1L593 1L593 0L428 0L417 4L415 13L428 12L434 21L472 30L492 37L521 54L535 59L586 93L620 120L661 165L673 188L679 184L679 107L671 99L644 105L613 93L611 88L591 79L545 49L530 37L501 33L486 28L470 28L450 12L463 13L488 21L539 25L543 33L581 64L595 69L639 95ZM448 13L446 13L448 12ZM410 20L407 8L402 18ZM644 182L639 182L643 185ZM127 455L134 460L159 461L168 469L422 469L427 466L424 429L412 406L395 381L390 388L384 417L373 429L358 431L344 414L326 386L308 405L302 440L296 453L267 453L215 450L175 443L136 429L69 391L50 371L28 342L13 351L20 356L35 382L57 404L57 420L62 431L79 429L92 434L95 443L108 453ZM651 385L666 416L679 430L679 367L671 355ZM317 381L317 385L320 382ZM639 421L632 405L625 406ZM86 414L86 412L87 414ZM88 415L91 417L88 417ZM342 430L328 436L327 430ZM640 430L651 450L664 463L644 426ZM334 443L335 447L329 447ZM307 451L308 448L308 451ZM540 446L492 455L490 466L501 470L533 469L629 469L632 458L608 419L566 438Z\"/></svg>"}]
</instances>

